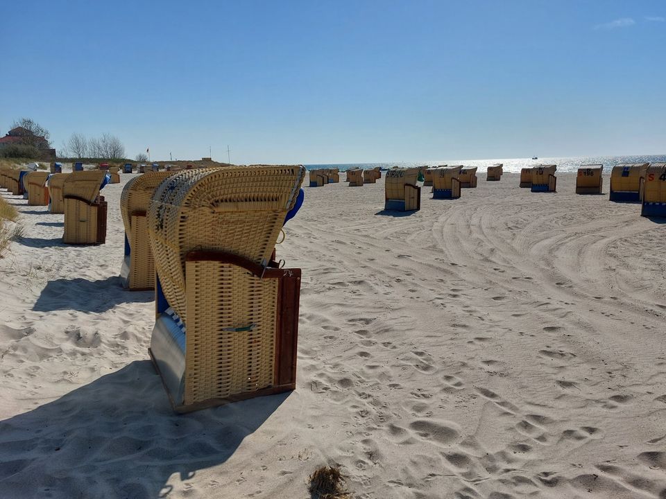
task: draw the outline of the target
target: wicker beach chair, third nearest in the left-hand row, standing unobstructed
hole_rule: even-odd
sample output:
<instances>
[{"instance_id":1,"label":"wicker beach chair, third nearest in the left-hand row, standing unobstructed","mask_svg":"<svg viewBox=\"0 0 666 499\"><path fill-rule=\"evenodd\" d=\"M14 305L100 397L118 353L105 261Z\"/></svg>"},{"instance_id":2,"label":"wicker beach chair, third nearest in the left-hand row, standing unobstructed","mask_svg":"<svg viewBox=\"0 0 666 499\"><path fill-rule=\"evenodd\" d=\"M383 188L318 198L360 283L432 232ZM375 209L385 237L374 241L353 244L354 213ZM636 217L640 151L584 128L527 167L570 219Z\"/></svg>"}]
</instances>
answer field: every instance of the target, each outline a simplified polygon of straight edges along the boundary
<instances>
[{"instance_id":1,"label":"wicker beach chair, third nearest in the left-hand row, standing unobstructed","mask_svg":"<svg viewBox=\"0 0 666 499\"><path fill-rule=\"evenodd\" d=\"M99 195L105 170L71 173L62 183L65 203L65 244L104 244L108 204Z\"/></svg>"}]
</instances>

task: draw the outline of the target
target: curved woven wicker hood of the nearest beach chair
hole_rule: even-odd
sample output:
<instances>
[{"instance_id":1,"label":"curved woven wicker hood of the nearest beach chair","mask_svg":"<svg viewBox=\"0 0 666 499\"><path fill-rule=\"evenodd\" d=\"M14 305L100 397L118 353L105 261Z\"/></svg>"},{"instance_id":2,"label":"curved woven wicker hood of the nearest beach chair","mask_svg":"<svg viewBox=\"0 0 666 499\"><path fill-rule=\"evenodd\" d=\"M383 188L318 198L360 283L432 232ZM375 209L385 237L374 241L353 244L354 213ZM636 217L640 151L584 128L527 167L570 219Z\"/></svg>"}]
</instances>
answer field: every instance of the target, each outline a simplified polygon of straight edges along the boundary
<instances>
[{"instance_id":1,"label":"curved woven wicker hood of the nearest beach chair","mask_svg":"<svg viewBox=\"0 0 666 499\"><path fill-rule=\"evenodd\" d=\"M187 324L185 256L223 251L267 263L305 177L302 166L182 170L162 182L148 208L155 269Z\"/></svg>"}]
</instances>

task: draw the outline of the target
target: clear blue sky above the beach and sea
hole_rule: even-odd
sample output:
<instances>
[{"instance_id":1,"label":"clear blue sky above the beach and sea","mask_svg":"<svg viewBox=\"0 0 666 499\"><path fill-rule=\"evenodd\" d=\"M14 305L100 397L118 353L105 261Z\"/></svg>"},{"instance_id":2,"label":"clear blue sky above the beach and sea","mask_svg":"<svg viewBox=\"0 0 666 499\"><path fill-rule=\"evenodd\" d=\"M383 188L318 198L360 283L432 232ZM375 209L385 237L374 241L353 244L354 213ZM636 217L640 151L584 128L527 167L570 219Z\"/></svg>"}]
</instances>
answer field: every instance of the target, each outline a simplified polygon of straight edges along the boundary
<instances>
[{"instance_id":1,"label":"clear blue sky above the beach and sea","mask_svg":"<svg viewBox=\"0 0 666 499\"><path fill-rule=\"evenodd\" d=\"M345 163L666 152L666 2L12 1L0 132L130 157Z\"/></svg>"}]
</instances>

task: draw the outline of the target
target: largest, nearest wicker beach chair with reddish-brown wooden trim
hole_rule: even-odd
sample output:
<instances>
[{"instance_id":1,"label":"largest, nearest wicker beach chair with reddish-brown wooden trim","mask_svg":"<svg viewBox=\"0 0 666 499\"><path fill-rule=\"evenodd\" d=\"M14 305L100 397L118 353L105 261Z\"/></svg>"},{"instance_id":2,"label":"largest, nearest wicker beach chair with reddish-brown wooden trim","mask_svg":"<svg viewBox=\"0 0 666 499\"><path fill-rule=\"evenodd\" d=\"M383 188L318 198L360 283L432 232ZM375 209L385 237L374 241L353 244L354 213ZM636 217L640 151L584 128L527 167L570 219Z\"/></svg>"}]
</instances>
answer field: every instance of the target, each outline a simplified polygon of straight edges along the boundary
<instances>
[{"instance_id":1,"label":"largest, nearest wicker beach chair with reddish-brown wooden trim","mask_svg":"<svg viewBox=\"0 0 666 499\"><path fill-rule=\"evenodd\" d=\"M177 412L296 386L300 269L270 261L302 166L185 170L148 208L151 358Z\"/></svg>"}]
</instances>

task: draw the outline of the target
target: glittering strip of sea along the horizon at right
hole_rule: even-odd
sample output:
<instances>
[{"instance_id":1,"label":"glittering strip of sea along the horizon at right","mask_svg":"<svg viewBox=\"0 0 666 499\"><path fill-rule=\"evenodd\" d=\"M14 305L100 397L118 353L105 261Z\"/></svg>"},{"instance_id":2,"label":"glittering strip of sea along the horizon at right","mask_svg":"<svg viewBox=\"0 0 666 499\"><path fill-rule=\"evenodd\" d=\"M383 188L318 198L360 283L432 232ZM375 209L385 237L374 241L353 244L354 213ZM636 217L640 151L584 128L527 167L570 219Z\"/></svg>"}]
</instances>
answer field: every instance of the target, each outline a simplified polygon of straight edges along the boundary
<instances>
[{"instance_id":1,"label":"glittering strip of sea along the horizon at right","mask_svg":"<svg viewBox=\"0 0 666 499\"><path fill-rule=\"evenodd\" d=\"M575 172L581 165L604 166L604 170L610 171L613 166L619 163L661 163L666 162L666 155L647 155L647 156L588 156L588 157L540 157L531 158L497 158L497 159L441 159L437 161L395 161L388 163L342 163L342 164L311 164L305 165L307 170L316 170L318 168L338 168L340 171L350 168L361 168L364 170L372 169L377 166L380 168L393 168L399 166L402 168L414 166L439 166L439 165L464 165L468 168L478 168L477 171L484 172L488 166L497 163L504 165L504 172L520 173L521 168L536 166L539 164L557 165L558 172Z\"/></svg>"}]
</instances>

